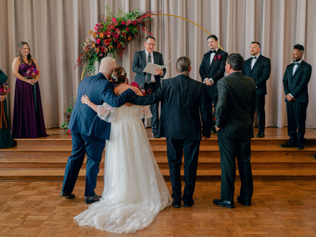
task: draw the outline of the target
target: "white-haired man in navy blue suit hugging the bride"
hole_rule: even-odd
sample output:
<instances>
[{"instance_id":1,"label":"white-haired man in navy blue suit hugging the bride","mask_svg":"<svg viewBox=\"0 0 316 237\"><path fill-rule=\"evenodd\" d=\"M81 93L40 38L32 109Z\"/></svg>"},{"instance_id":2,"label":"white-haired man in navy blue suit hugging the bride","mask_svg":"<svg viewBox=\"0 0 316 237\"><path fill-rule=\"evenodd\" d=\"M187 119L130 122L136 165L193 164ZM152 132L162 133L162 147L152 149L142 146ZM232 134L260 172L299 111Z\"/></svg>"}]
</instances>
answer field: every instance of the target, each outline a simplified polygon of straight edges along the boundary
<instances>
[{"instance_id":1,"label":"white-haired man in navy blue suit hugging the bride","mask_svg":"<svg viewBox=\"0 0 316 237\"><path fill-rule=\"evenodd\" d=\"M122 106L134 98L136 96L133 91L136 90L135 87L130 87L119 96L114 93L114 84L108 79L115 66L114 58L103 58L100 72L97 75L83 78L79 84L76 104L68 125L71 130L72 152L67 161L60 196L75 197L72 191L84 156L87 154L85 203L93 203L100 199L100 196L95 194L94 189L105 141L110 137L111 124L101 120L94 110L82 104L81 96L87 94L94 104L101 105L106 102L112 107Z\"/></svg>"}]
</instances>

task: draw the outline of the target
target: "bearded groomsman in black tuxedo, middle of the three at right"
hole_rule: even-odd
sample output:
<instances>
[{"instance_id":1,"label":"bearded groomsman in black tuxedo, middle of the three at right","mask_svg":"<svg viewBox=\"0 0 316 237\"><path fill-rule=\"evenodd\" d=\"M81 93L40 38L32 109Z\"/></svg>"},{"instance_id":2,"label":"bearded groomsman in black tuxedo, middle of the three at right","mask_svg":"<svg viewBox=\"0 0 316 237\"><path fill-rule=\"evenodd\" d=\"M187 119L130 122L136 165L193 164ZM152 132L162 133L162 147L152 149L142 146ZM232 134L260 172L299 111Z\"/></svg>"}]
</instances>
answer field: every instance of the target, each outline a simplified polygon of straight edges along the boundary
<instances>
[{"instance_id":1,"label":"bearded groomsman in black tuxedo, middle of the three at right","mask_svg":"<svg viewBox=\"0 0 316 237\"><path fill-rule=\"evenodd\" d=\"M266 81L270 77L271 62L270 58L266 58L260 54L260 43L253 41L250 45L250 55L245 61L241 73L251 77L257 87L257 113L258 113L258 134L256 137L264 137L265 128L265 95L267 94Z\"/></svg>"}]
</instances>

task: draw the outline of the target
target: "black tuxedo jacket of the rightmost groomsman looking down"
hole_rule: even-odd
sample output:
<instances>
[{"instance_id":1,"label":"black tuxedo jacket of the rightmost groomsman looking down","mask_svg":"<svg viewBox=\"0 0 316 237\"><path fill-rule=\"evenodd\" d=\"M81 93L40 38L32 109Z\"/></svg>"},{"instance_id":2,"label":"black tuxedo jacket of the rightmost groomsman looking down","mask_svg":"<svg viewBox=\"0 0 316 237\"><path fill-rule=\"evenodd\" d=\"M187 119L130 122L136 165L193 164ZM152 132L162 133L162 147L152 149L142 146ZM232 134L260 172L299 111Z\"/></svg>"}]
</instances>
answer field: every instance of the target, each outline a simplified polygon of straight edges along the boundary
<instances>
[{"instance_id":1,"label":"black tuxedo jacket of the rightmost groomsman looking down","mask_svg":"<svg viewBox=\"0 0 316 237\"><path fill-rule=\"evenodd\" d=\"M291 94L295 98L296 103L308 102L307 84L311 79L312 66L304 60L298 65L293 74L294 64L289 64L283 76L283 88L285 95ZM289 102L285 98L285 102Z\"/></svg>"}]
</instances>

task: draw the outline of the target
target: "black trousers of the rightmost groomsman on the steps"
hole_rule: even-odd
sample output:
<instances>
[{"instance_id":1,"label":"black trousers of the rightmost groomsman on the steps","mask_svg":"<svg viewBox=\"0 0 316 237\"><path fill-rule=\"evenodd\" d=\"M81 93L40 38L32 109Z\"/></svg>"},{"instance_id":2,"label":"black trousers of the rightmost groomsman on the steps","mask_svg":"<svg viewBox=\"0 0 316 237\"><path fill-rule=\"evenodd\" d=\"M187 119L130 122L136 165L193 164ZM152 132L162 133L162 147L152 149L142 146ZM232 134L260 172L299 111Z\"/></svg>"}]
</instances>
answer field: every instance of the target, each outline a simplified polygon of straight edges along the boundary
<instances>
[{"instance_id":1,"label":"black trousers of the rightmost groomsman on the steps","mask_svg":"<svg viewBox=\"0 0 316 237\"><path fill-rule=\"evenodd\" d=\"M288 135L292 144L305 143L305 121L307 102L286 102L286 113L288 115Z\"/></svg>"}]
</instances>

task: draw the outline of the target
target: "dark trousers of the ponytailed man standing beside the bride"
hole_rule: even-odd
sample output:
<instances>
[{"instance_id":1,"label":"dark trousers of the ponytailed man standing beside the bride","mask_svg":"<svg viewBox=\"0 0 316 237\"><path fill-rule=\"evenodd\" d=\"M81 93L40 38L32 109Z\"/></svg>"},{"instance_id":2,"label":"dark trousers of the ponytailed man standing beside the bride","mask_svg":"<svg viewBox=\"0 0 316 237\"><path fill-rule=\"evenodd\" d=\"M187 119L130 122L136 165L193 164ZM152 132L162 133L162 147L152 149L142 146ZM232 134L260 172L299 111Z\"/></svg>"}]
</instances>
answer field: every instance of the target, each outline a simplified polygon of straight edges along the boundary
<instances>
[{"instance_id":1,"label":"dark trousers of the ponytailed man standing beside the bride","mask_svg":"<svg viewBox=\"0 0 316 237\"><path fill-rule=\"evenodd\" d=\"M182 140L175 138L166 138L166 140L172 197L174 202L181 202L182 192L180 169L182 163L182 154L184 154L183 181L185 186L182 200L185 203L190 202L195 189L200 140Z\"/></svg>"}]
</instances>

